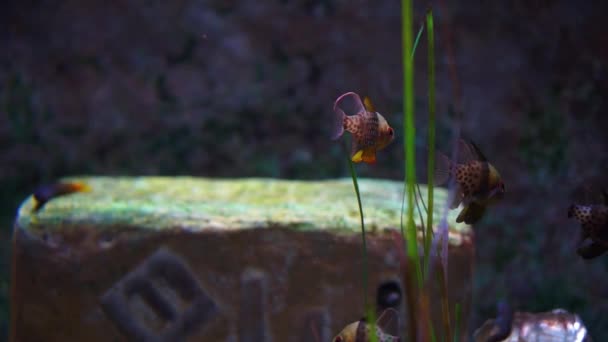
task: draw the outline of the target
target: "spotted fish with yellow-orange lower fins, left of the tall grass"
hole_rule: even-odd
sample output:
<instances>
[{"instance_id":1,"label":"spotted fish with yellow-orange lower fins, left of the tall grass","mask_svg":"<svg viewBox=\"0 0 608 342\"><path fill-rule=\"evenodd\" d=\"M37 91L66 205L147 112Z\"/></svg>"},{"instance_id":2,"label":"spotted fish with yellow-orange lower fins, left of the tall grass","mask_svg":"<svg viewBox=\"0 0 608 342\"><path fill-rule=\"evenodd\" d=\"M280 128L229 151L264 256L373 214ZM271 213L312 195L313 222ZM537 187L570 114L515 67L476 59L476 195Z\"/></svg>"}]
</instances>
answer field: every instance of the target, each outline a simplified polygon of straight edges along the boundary
<instances>
[{"instance_id":1,"label":"spotted fish with yellow-orange lower fins, left of the tall grass","mask_svg":"<svg viewBox=\"0 0 608 342\"><path fill-rule=\"evenodd\" d=\"M353 115L346 115L339 106L342 101L348 98L353 101ZM367 97L364 105L356 93L343 94L334 102L334 112L336 114L332 139L340 138L345 130L351 133L351 160L355 163L374 164L376 162L376 152L385 148L395 138L391 126L388 125L388 122L380 113L374 110Z\"/></svg>"}]
</instances>

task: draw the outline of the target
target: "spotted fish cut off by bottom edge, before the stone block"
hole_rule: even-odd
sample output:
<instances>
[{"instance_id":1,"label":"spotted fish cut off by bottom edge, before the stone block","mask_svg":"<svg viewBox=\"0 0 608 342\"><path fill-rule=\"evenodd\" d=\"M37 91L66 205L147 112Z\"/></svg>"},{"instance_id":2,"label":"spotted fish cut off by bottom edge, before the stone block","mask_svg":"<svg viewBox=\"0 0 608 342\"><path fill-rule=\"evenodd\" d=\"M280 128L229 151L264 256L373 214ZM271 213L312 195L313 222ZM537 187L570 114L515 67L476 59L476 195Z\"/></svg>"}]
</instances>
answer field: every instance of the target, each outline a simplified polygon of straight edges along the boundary
<instances>
[{"instance_id":1,"label":"spotted fish cut off by bottom edge, before the stone block","mask_svg":"<svg viewBox=\"0 0 608 342\"><path fill-rule=\"evenodd\" d=\"M399 342L397 331L399 329L399 314L393 308L385 309L380 317L376 320L375 334L378 342ZM370 339L371 329L365 322L365 318L350 323L332 342L368 342Z\"/></svg>"}]
</instances>

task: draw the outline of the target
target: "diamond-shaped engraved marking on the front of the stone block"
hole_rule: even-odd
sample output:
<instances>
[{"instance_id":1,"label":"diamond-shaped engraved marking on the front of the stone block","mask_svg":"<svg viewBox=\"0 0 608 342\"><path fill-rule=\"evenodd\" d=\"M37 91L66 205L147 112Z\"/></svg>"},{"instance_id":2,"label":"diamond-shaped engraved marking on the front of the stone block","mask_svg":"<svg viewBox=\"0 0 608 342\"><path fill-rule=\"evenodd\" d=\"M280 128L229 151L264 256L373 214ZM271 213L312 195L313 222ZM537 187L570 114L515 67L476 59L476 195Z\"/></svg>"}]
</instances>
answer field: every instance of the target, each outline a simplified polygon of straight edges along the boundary
<instances>
[{"instance_id":1,"label":"diamond-shaped engraved marking on the front of the stone block","mask_svg":"<svg viewBox=\"0 0 608 342\"><path fill-rule=\"evenodd\" d=\"M164 248L114 284L101 306L136 341L184 340L218 311L186 263Z\"/></svg>"}]
</instances>

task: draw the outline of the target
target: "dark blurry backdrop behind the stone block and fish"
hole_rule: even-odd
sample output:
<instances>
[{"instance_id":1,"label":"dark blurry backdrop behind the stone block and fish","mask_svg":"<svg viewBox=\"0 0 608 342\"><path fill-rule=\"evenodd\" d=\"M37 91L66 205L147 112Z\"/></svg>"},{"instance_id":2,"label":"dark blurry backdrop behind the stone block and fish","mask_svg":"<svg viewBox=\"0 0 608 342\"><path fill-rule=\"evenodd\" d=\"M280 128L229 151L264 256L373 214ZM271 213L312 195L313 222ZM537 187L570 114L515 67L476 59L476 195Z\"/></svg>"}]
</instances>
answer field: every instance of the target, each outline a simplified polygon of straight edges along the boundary
<instances>
[{"instance_id":1,"label":"dark blurry backdrop behind the stone block and fish","mask_svg":"<svg viewBox=\"0 0 608 342\"><path fill-rule=\"evenodd\" d=\"M608 257L577 257L566 208L608 184L608 5L415 3L416 30L435 9L439 147L450 149L460 88L464 133L508 191L475 227L472 328L507 297L518 310L577 312L607 340ZM398 139L360 176L402 179L400 34L396 0L1 2L2 335L12 220L38 184L73 174L347 176L327 115L351 90L373 99ZM422 43L420 146L425 53Z\"/></svg>"}]
</instances>

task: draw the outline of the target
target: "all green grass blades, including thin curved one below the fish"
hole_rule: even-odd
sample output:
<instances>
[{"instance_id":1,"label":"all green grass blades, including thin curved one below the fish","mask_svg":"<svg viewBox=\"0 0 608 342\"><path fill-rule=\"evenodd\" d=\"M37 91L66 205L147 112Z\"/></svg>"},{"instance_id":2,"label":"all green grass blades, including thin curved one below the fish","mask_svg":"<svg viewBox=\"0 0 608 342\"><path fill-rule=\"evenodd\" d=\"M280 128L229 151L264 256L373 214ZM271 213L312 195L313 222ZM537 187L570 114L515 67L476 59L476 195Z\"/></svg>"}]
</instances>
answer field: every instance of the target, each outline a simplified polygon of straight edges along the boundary
<instances>
[{"instance_id":1,"label":"all green grass blades, including thin curved one below the fish","mask_svg":"<svg viewBox=\"0 0 608 342\"><path fill-rule=\"evenodd\" d=\"M438 336L441 336L441 341L457 341L458 330L456 334L452 334L450 324L450 310L447 294L447 261L439 263L437 279L440 283L440 301L441 301L441 326L442 334L436 334L433 322L431 320L431 297L430 283L432 282L432 266L436 255L440 253L439 249L443 248L443 253L447 256L447 246L433 243L434 239L434 169L435 169L435 36L434 36L434 21L432 11L426 13L425 21L421 25L416 38L413 37L413 6L412 0L401 1L402 15L402 48L403 48L403 148L405 153L404 163L404 193L403 200L407 198L406 222L403 222L404 203L402 202L401 214L401 238L404 239L403 247L406 251L402 259L402 272L404 277L404 285L406 292L407 307L409 310L409 332L402 334L403 337L409 336L413 341L436 341ZM428 106L429 106L429 127L428 127L428 162L427 162L427 205L424 205L422 192L416 182L416 155L415 155L415 115L414 115L414 53L420 41L422 33L426 27L427 31L427 62L428 62ZM363 291L364 291L364 307L366 311L367 322L371 325L372 331L375 324L375 311L368 300L369 290L369 265L367 255L365 220L363 215L363 206L361 203L361 194L357 180L356 171L353 162L348 159L349 169L357 203L359 206L359 216L361 221L361 240L362 240L362 255L363 255ZM418 190L418 199L416 199L416 189ZM406 196L407 195L407 196ZM449 200L448 200L449 201ZM426 211L426 224L420 213L419 202L422 203ZM414 206L418 206L420 221L423 227L423 255L421 256L418 250L418 235L417 227L414 221ZM446 212L447 214L447 212ZM444 214L444 216L446 215ZM443 217L442 222L445 221ZM442 237L447 239L447 235ZM433 250L437 249L435 253ZM424 267L423 267L424 265ZM456 312L456 329L460 320L460 307L457 305ZM375 334L371 334L371 341L376 341Z\"/></svg>"}]
</instances>

